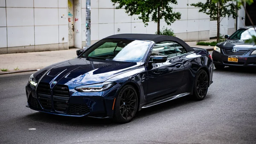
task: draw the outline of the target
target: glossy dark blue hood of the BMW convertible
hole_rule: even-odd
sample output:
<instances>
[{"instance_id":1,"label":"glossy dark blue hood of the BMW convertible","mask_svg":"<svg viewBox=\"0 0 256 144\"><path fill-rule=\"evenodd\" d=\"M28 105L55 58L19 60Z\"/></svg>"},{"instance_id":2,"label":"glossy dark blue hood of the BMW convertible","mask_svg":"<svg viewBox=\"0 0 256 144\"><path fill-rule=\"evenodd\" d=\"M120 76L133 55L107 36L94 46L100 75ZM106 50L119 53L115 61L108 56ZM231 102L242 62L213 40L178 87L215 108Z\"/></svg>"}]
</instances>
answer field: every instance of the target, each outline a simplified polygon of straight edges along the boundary
<instances>
[{"instance_id":1,"label":"glossy dark blue hood of the BMW convertible","mask_svg":"<svg viewBox=\"0 0 256 144\"><path fill-rule=\"evenodd\" d=\"M140 66L140 62L117 62L112 60L75 58L50 65L34 73L37 81L58 84L76 82L80 84L101 83L134 70Z\"/></svg>"}]
</instances>

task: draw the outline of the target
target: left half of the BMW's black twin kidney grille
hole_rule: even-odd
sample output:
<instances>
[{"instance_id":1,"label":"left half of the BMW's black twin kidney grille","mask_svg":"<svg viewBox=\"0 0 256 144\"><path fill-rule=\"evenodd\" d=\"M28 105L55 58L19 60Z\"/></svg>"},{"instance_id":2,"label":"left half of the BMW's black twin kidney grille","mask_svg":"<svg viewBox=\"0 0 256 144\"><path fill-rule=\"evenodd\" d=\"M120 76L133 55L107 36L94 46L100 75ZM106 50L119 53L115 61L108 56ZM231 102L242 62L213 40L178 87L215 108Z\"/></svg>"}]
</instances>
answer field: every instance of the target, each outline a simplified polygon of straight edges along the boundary
<instances>
[{"instance_id":1,"label":"left half of the BMW's black twin kidney grille","mask_svg":"<svg viewBox=\"0 0 256 144\"><path fill-rule=\"evenodd\" d=\"M51 93L50 93L50 85L47 83L39 83L37 87L38 99L41 106L45 110L52 109L52 102L51 102Z\"/></svg>"}]
</instances>

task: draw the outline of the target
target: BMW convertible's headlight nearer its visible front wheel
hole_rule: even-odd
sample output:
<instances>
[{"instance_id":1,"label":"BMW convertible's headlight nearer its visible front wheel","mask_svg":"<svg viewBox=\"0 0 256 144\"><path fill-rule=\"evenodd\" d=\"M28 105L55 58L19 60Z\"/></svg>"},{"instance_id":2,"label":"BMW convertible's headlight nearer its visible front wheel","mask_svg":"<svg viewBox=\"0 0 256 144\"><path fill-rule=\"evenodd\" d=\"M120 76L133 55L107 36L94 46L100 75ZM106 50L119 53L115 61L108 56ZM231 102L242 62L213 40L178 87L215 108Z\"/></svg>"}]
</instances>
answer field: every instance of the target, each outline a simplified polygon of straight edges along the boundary
<instances>
[{"instance_id":1,"label":"BMW convertible's headlight nearer its visible front wheel","mask_svg":"<svg viewBox=\"0 0 256 144\"><path fill-rule=\"evenodd\" d=\"M93 85L84 85L81 87L76 87L75 90L79 92L95 92L95 91L103 91L113 87L113 82L103 82L101 84L93 84Z\"/></svg>"}]
</instances>

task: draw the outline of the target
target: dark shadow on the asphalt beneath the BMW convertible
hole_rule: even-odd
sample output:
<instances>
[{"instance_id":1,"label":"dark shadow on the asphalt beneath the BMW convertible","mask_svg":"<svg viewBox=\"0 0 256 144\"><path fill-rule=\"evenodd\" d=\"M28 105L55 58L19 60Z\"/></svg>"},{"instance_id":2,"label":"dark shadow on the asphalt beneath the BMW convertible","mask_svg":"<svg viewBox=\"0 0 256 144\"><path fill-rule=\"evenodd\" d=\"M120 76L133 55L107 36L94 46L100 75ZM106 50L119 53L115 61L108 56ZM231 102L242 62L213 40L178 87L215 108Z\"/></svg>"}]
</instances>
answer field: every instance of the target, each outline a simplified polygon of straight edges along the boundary
<instances>
[{"instance_id":1,"label":"dark shadow on the asphalt beneath the BMW convertible","mask_svg":"<svg viewBox=\"0 0 256 144\"><path fill-rule=\"evenodd\" d=\"M148 107L137 112L136 116L132 121L140 121L141 118L148 118L154 114L164 112L166 110L180 110L178 107L183 107L186 110L186 105L192 103L200 103L211 99L211 95L207 94L203 101L195 101L192 96L184 96L179 99L172 100L170 102L165 102L163 104L158 104L153 107ZM93 126L93 127L104 127L106 125L119 125L119 123L114 122L112 119L96 119L87 117L68 117L68 116L58 116L48 113L37 112L23 117L25 120L61 124L69 126ZM131 122L132 122L131 121ZM145 121L145 119L143 119Z\"/></svg>"}]
</instances>

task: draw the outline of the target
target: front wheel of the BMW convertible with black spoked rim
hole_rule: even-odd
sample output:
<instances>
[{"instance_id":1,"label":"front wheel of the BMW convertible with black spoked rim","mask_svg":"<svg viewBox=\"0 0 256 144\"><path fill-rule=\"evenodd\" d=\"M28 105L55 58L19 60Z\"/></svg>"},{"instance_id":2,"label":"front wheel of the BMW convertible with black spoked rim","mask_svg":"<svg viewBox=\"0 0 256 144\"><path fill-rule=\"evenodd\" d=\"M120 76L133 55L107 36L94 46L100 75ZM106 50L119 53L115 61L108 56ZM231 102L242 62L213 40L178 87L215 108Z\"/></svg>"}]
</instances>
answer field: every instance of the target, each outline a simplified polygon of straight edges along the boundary
<instances>
[{"instance_id":1,"label":"front wheel of the BMW convertible with black spoked rim","mask_svg":"<svg viewBox=\"0 0 256 144\"><path fill-rule=\"evenodd\" d=\"M138 110L138 96L131 85L125 85L116 97L113 120L119 123L130 122Z\"/></svg>"}]
</instances>

